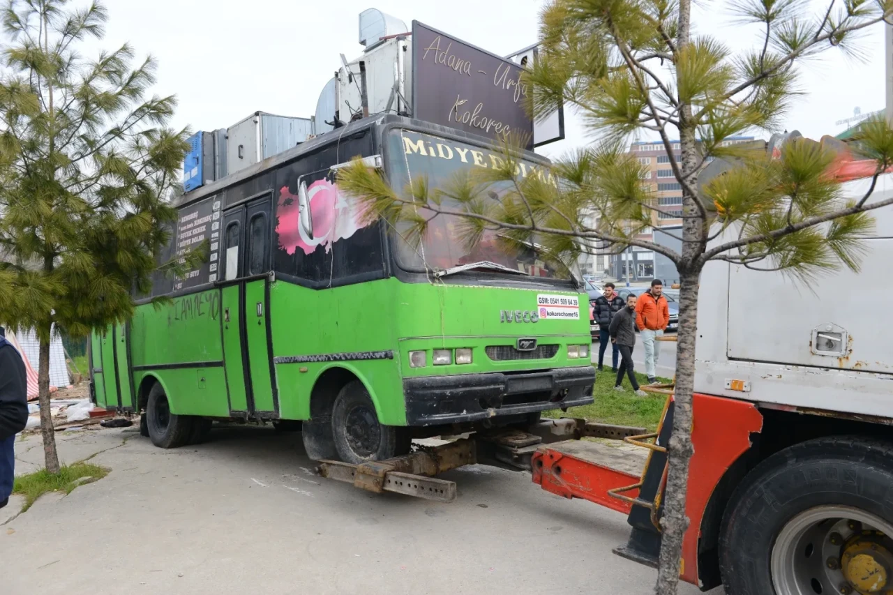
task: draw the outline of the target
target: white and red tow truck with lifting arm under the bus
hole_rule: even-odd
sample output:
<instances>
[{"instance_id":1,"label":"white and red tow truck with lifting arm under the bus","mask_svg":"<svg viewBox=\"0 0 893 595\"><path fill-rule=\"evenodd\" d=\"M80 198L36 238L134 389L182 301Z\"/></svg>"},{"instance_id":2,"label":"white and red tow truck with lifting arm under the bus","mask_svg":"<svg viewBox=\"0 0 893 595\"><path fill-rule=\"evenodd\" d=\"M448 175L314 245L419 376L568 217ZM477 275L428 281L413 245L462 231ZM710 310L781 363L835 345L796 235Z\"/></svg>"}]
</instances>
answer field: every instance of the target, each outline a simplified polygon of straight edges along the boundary
<instances>
[{"instance_id":1,"label":"white and red tow truck with lifting arm under the bus","mask_svg":"<svg viewBox=\"0 0 893 595\"><path fill-rule=\"evenodd\" d=\"M864 196L875 163L836 148L829 175L846 198ZM893 174L885 172L871 200L890 194ZM781 272L705 267L680 566L682 580L704 591L723 584L727 595L893 593L893 340L885 315L893 209L873 216L860 273L804 285ZM543 420L442 437L385 461L322 461L320 473L448 502L455 483L438 473L473 463L528 469L543 490L627 515L629 540L614 552L656 566L674 406L672 384L648 390L667 396L656 432ZM593 448L583 438L627 448ZM643 456L624 457L629 448Z\"/></svg>"}]
</instances>

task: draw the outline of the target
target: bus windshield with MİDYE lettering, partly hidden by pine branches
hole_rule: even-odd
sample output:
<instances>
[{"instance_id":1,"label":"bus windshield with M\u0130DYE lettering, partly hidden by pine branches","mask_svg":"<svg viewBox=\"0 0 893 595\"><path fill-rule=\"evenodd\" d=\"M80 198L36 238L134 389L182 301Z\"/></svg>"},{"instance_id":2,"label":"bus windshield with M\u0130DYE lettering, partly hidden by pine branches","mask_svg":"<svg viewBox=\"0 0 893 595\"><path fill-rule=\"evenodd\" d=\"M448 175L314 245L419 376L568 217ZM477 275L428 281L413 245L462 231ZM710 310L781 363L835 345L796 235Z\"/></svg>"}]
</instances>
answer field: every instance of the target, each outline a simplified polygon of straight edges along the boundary
<instances>
[{"instance_id":1,"label":"bus windshield with M\u0130DYE lettering, partly hidden by pine branches","mask_svg":"<svg viewBox=\"0 0 893 595\"><path fill-rule=\"evenodd\" d=\"M394 130L388 137L388 173L391 184L398 193L405 192L406 185L417 178L427 178L430 189L443 188L455 180L461 172L471 172L474 167L491 167L498 163L499 155L485 147L475 147L455 140L440 138L411 130ZM542 169L541 169L542 168ZM525 175L540 175L546 169L539 163L523 163ZM490 197L505 193L509 182L488 187ZM444 208L458 210L459 205L445 197ZM570 273L563 267L550 263L535 244L517 247L501 239L497 233L487 231L480 242L471 249L462 236L462 222L456 215L420 212L426 218L433 217L425 237L418 244L406 241L404 229L394 230L394 252L401 268L410 271L446 271L474 263L492 263L533 277L569 280ZM471 267L463 272L478 275L505 274L498 267Z\"/></svg>"}]
</instances>

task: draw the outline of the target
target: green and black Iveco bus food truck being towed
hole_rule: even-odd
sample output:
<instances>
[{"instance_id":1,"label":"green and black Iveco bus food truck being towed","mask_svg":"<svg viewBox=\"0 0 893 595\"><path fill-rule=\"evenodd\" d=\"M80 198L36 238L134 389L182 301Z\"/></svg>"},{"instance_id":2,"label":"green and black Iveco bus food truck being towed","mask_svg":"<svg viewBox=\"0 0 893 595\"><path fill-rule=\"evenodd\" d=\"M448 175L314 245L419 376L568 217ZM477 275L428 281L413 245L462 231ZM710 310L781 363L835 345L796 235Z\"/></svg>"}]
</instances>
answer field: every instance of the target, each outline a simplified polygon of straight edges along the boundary
<instances>
[{"instance_id":1,"label":"green and black Iveco bus food truck being towed","mask_svg":"<svg viewBox=\"0 0 893 595\"><path fill-rule=\"evenodd\" d=\"M357 156L403 191L497 155L488 139L382 115L188 192L159 257L207 242L207 262L159 275L128 323L93 335L96 404L142 413L162 448L237 419L300 424L310 457L359 463L591 403L588 300L571 275L536 246L485 235L467 248L456 217L407 241L338 190ZM518 169L555 183L533 153Z\"/></svg>"}]
</instances>

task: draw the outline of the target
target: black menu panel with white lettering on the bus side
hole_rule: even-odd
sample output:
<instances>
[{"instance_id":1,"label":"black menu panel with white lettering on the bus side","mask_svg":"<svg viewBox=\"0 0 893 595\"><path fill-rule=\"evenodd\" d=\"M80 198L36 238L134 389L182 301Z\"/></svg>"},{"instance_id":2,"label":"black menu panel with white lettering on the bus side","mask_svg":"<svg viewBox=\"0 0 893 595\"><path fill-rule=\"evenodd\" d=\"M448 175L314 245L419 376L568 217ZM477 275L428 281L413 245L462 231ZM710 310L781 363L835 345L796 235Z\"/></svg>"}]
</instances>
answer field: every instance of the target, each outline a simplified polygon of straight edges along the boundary
<instances>
[{"instance_id":1,"label":"black menu panel with white lettering on the bus side","mask_svg":"<svg viewBox=\"0 0 893 595\"><path fill-rule=\"evenodd\" d=\"M203 264L174 281L174 291L213 283L220 277L221 203L221 197L214 196L180 207L174 238L177 256L200 247L205 240L210 251Z\"/></svg>"}]
</instances>

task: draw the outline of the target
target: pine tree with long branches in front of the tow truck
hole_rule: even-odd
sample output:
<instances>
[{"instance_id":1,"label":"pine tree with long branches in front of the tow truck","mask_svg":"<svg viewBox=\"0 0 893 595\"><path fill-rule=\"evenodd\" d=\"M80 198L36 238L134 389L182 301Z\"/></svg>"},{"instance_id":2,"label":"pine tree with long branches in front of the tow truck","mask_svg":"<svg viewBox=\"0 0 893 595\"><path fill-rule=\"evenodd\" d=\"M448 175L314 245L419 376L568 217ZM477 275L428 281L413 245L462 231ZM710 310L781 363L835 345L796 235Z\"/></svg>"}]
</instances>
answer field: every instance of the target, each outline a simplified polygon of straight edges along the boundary
<instances>
[{"instance_id":1,"label":"pine tree with long branches in front of the tow truck","mask_svg":"<svg viewBox=\"0 0 893 595\"><path fill-rule=\"evenodd\" d=\"M676 592L691 443L698 281L705 264L721 260L809 278L841 266L856 270L872 229L870 200L881 172L893 163L893 130L866 122L860 150L877 163L871 189L853 201L826 175L834 151L805 139L789 142L780 159L764 149L730 147L730 137L780 129L798 65L831 48L858 56L858 32L893 15L890 0L830 0L820 13L791 0L732 0L722 4L760 30L752 49L735 54L722 40L692 34L691 0L552 0L541 14L539 59L525 77L531 110L541 116L559 101L577 108L599 140L555 163L561 183L516 176L521 155L507 139L504 164L431 189L425 180L401 192L361 162L339 173L339 186L421 238L432 217L460 218L473 245L485 232L508 242L536 241L557 264L582 253L618 254L642 247L666 256L680 274L675 409L663 499L662 545L655 592ZM630 136L659 137L668 168L682 189L681 231L656 222L659 202L643 188L645 173L624 152ZM672 143L679 138L679 144ZM675 155L679 155L678 157ZM698 179L714 158L738 165ZM672 180L672 179L671 179ZM508 191L488 194L488 185ZM595 222L592 222L595 221ZM679 251L641 239L648 228L672 236Z\"/></svg>"}]
</instances>

